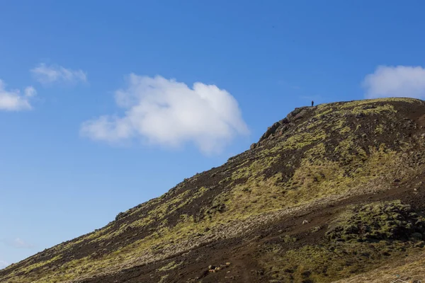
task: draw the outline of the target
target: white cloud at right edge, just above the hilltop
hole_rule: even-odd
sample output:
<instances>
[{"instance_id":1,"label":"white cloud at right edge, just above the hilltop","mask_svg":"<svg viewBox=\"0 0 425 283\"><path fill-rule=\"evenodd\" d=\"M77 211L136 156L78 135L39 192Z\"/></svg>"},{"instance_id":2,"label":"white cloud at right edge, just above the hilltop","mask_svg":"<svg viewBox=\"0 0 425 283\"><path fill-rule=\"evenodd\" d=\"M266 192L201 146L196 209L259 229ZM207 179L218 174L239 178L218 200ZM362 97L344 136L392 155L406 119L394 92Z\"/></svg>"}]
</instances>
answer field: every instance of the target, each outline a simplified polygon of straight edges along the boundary
<instances>
[{"instance_id":1,"label":"white cloud at right edge, just above the hilltop","mask_svg":"<svg viewBox=\"0 0 425 283\"><path fill-rule=\"evenodd\" d=\"M388 96L425 98L425 69L409 66L379 66L362 83L367 98Z\"/></svg>"}]
</instances>

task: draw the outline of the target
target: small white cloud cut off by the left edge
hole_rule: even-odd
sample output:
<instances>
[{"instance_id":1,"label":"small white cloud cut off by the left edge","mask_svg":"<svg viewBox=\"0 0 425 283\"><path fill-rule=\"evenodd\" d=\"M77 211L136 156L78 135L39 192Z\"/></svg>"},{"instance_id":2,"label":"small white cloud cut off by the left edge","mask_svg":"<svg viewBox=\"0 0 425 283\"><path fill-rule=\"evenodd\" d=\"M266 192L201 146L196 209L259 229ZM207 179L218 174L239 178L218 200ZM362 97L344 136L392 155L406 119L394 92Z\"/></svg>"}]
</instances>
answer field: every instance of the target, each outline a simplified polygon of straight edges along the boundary
<instances>
[{"instance_id":1,"label":"small white cloud cut off by the left edge","mask_svg":"<svg viewBox=\"0 0 425 283\"><path fill-rule=\"evenodd\" d=\"M37 91L32 86L28 86L23 91L23 95L19 90L6 90L6 84L0 80L0 110L19 111L30 110L30 98L35 96Z\"/></svg>"}]
</instances>

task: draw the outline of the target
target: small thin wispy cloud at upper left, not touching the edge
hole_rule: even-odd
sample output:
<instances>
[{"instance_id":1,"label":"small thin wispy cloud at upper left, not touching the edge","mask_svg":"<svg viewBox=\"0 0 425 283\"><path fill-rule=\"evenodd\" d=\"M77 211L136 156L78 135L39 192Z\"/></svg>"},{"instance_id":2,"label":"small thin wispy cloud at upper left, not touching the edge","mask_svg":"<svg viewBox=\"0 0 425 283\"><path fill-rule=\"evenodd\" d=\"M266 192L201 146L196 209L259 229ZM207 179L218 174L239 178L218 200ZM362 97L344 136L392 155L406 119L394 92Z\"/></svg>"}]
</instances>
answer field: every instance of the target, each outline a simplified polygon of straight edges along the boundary
<instances>
[{"instance_id":1,"label":"small thin wispy cloud at upper left, not touching the edge","mask_svg":"<svg viewBox=\"0 0 425 283\"><path fill-rule=\"evenodd\" d=\"M42 63L30 70L37 81L42 84L50 84L55 82L77 83L86 82L87 74L82 70L66 69L58 65L50 65Z\"/></svg>"}]
</instances>

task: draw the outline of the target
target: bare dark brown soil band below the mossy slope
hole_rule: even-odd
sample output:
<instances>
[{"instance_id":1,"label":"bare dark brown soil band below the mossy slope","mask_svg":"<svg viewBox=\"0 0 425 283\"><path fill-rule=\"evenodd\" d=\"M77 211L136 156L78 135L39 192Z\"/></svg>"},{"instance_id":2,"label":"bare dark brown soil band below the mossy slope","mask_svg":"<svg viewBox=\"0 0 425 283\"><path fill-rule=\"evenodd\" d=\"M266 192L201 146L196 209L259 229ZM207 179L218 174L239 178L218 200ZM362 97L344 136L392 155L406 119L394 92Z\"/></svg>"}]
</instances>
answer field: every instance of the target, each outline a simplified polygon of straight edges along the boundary
<instances>
[{"instance_id":1,"label":"bare dark brown soil band below the mossy slope","mask_svg":"<svg viewBox=\"0 0 425 283\"><path fill-rule=\"evenodd\" d=\"M425 173L416 181L424 181ZM281 241L280 236L293 235L299 239L295 243L288 246L297 248L307 244L319 243L323 240L325 227L329 219L341 211L342 208L349 204L365 204L377 200L402 200L407 204L411 204L417 209L425 210L425 190L414 193L414 186L409 183L395 185L391 190L381 192L379 194L372 193L370 195L362 195L360 197L351 197L341 202L322 207L314 207L314 209L306 212L300 212L291 215L287 219L280 219L278 223L268 224L259 231L255 231L251 235L244 238L234 238L232 241L218 241L216 243L191 250L186 255L179 255L168 260L176 262L184 262L169 272L169 279L166 282L199 282L203 283L217 282L252 282L261 283L268 282L268 278L261 275L261 266L256 260L261 251L258 247L263 243L273 243L273 241ZM304 219L310 219L308 224L302 225ZM317 233L307 233L315 226L324 226ZM246 240L250 238L250 240ZM231 262L231 265L219 272L208 272L209 265L225 265L225 262ZM81 281L81 283L139 283L139 282L158 282L157 278L152 279L152 273L164 265L164 262L149 264L144 266L132 267L129 270L122 270L116 275L107 275L105 277L96 277Z\"/></svg>"}]
</instances>

